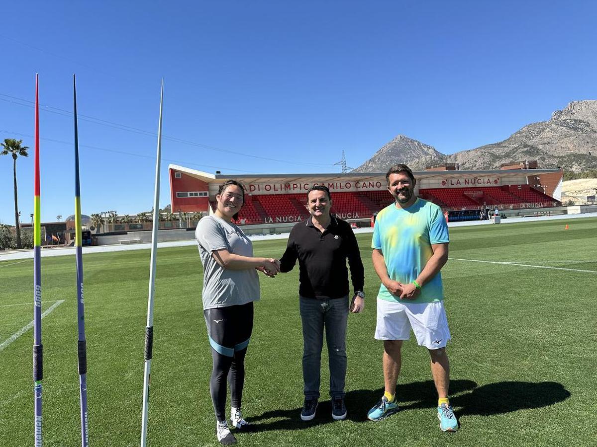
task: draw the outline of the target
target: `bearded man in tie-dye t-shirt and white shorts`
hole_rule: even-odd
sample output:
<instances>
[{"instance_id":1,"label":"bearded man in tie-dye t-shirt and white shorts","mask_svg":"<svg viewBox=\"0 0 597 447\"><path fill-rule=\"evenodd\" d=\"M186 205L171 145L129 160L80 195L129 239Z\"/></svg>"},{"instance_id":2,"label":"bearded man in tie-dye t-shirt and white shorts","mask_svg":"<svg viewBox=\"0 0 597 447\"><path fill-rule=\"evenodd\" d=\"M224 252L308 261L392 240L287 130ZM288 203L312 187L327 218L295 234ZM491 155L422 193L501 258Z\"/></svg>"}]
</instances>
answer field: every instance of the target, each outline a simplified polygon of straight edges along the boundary
<instances>
[{"instance_id":1,"label":"bearded man in tie-dye t-shirt and white shorts","mask_svg":"<svg viewBox=\"0 0 597 447\"><path fill-rule=\"evenodd\" d=\"M448 400L450 362L445 352L450 329L439 272L448 260L448 225L439 206L414 194L416 179L408 166L390 167L386 181L395 203L378 213L371 242L373 266L381 280L375 338L383 340L385 392L367 417L380 421L398 411L402 342L412 329L431 357L439 427L455 432L458 421Z\"/></svg>"}]
</instances>

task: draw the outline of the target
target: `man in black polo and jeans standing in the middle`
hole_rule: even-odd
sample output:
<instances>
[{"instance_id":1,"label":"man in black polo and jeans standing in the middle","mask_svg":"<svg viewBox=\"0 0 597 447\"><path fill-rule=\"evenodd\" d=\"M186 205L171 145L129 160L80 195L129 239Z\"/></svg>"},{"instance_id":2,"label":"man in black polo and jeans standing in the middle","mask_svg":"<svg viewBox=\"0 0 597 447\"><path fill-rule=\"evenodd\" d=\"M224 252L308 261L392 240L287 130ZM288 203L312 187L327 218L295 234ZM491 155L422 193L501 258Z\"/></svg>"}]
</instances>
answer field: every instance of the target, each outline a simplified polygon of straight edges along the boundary
<instances>
[{"instance_id":1,"label":"man in black polo and jeans standing in the middle","mask_svg":"<svg viewBox=\"0 0 597 447\"><path fill-rule=\"evenodd\" d=\"M300 315L303 324L303 421L315 417L321 377L321 349L325 339L330 357L330 397L332 417L346 418L344 381L346 379L346 322L349 312L348 269L355 289L350 311L365 307L365 274L355 234L348 222L330 215L332 200L325 186L314 186L307 193L306 222L294 225L281 257L281 272L294 268L298 259Z\"/></svg>"}]
</instances>

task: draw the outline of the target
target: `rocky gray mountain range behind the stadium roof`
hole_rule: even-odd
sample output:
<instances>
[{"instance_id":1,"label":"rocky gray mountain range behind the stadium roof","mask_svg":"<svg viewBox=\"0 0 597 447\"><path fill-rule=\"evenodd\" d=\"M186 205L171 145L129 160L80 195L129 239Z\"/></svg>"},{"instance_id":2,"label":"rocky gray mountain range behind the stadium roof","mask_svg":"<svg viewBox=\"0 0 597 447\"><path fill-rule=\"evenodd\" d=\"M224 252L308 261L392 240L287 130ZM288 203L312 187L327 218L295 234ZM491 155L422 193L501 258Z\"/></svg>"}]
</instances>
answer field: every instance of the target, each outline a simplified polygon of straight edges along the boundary
<instances>
[{"instance_id":1,"label":"rocky gray mountain range behind the stadium roof","mask_svg":"<svg viewBox=\"0 0 597 447\"><path fill-rule=\"evenodd\" d=\"M532 123L509 138L445 155L434 147L398 135L353 172L384 172L395 163L413 170L458 163L461 170L500 169L502 164L537 160L541 168L573 172L597 168L597 100L573 101L549 121Z\"/></svg>"}]
</instances>

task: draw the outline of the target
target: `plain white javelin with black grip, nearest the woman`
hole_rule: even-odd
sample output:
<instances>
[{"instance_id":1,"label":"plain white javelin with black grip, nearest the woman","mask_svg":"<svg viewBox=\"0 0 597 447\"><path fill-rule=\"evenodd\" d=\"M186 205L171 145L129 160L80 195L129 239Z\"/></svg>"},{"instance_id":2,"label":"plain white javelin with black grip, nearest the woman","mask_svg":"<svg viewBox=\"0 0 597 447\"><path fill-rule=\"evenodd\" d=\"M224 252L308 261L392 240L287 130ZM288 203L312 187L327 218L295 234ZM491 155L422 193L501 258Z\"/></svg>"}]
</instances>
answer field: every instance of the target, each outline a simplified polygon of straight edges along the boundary
<instances>
[{"instance_id":1,"label":"plain white javelin with black grip, nearest the woman","mask_svg":"<svg viewBox=\"0 0 597 447\"><path fill-rule=\"evenodd\" d=\"M153 229L151 234L151 265L149 272L149 302L145 328L145 374L143 378L143 413L141 422L141 447L147 445L147 412L149 411L149 382L153 347L153 296L155 295L155 261L158 254L159 224L159 166L162 156L162 105L164 104L164 79L159 98L158 156L155 162L155 196L153 198Z\"/></svg>"}]
</instances>

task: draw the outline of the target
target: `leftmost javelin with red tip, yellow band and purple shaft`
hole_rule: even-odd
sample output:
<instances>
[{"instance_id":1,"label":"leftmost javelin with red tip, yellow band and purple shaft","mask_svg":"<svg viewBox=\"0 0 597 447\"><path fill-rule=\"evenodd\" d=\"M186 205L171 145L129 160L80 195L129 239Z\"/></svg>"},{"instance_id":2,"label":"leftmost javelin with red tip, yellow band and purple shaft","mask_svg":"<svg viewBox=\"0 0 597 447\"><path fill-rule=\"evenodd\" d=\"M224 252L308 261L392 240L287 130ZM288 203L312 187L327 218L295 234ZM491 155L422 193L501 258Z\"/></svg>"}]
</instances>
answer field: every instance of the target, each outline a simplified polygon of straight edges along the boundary
<instances>
[{"instance_id":1,"label":"leftmost javelin with red tip, yellow band and purple shaft","mask_svg":"<svg viewBox=\"0 0 597 447\"><path fill-rule=\"evenodd\" d=\"M41 217L39 215L39 94L38 75L35 75L35 159L33 160L33 393L35 401L35 447L42 446L41 380L43 347L41 344Z\"/></svg>"}]
</instances>

